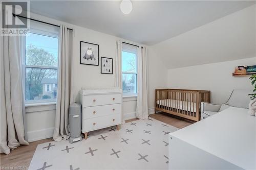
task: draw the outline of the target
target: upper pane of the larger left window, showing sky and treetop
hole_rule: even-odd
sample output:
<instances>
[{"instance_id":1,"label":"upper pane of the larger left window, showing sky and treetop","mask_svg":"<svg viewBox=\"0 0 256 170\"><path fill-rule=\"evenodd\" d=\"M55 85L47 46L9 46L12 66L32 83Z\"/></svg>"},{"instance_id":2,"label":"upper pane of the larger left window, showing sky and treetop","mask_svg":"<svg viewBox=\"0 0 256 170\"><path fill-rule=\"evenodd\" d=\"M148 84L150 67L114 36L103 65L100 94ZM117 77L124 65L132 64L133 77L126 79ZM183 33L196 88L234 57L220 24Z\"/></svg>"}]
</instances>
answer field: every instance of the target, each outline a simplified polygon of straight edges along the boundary
<instances>
[{"instance_id":1,"label":"upper pane of the larger left window, showing sky and treetop","mask_svg":"<svg viewBox=\"0 0 256 170\"><path fill-rule=\"evenodd\" d=\"M28 33L26 36L26 65L58 65L58 38Z\"/></svg>"}]
</instances>

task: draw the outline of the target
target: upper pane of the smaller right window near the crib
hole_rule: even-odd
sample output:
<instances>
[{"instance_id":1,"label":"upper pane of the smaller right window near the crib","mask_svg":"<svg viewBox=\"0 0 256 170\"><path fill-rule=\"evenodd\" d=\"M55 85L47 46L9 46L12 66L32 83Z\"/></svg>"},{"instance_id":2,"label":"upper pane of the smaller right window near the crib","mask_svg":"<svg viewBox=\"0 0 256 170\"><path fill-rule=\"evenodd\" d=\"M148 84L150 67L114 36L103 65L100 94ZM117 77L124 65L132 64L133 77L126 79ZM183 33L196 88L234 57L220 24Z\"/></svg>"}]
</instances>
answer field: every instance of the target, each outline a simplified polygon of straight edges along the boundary
<instances>
[{"instance_id":1,"label":"upper pane of the smaller right window near the crib","mask_svg":"<svg viewBox=\"0 0 256 170\"><path fill-rule=\"evenodd\" d=\"M136 54L122 52L122 71L136 73Z\"/></svg>"}]
</instances>

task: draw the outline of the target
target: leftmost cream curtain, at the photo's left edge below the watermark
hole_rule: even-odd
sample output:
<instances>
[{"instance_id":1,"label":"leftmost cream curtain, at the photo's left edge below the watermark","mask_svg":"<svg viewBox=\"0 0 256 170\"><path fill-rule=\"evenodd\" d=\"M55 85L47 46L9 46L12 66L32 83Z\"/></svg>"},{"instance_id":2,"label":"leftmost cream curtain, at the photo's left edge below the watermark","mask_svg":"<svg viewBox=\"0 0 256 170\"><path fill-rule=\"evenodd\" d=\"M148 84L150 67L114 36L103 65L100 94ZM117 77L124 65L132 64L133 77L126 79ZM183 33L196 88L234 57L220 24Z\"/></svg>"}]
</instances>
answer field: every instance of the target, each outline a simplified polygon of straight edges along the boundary
<instances>
[{"instance_id":1,"label":"leftmost cream curtain, at the photo's left edge below the watermark","mask_svg":"<svg viewBox=\"0 0 256 170\"><path fill-rule=\"evenodd\" d=\"M19 36L1 36L1 153L25 140L24 94L22 87L22 61L19 50Z\"/></svg>"}]
</instances>

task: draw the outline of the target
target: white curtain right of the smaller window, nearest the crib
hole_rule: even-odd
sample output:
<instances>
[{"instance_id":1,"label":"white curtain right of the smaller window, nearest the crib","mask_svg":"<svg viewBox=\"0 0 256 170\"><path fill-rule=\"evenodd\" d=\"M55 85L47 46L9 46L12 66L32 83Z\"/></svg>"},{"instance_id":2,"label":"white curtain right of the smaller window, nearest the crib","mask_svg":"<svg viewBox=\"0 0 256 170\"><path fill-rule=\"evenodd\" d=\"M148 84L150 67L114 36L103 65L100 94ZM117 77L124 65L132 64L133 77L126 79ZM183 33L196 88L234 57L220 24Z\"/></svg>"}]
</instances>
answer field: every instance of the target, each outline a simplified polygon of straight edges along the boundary
<instances>
[{"instance_id":1,"label":"white curtain right of the smaller window, nearest the crib","mask_svg":"<svg viewBox=\"0 0 256 170\"><path fill-rule=\"evenodd\" d=\"M147 106L147 50L146 47L138 48L137 53L137 118L148 118Z\"/></svg>"}]
</instances>

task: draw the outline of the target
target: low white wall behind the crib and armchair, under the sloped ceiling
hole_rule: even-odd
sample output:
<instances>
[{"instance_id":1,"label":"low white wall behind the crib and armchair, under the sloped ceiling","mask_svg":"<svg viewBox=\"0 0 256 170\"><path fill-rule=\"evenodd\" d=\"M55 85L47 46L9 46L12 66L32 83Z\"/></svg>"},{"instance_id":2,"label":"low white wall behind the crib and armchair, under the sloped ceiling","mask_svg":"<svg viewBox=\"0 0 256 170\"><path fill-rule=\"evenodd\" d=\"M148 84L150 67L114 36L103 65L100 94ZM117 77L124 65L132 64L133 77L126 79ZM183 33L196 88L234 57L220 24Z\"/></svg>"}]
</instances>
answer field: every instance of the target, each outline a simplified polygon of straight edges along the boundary
<instances>
[{"instance_id":1,"label":"low white wall behind the crib and armchair, under the sloped ceiling","mask_svg":"<svg viewBox=\"0 0 256 170\"><path fill-rule=\"evenodd\" d=\"M256 57L168 69L168 87L210 90L211 102L225 103L232 89L253 89L249 77L233 77L234 67L255 65Z\"/></svg>"}]
</instances>

